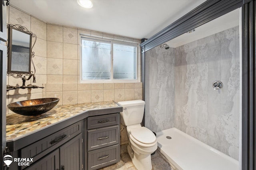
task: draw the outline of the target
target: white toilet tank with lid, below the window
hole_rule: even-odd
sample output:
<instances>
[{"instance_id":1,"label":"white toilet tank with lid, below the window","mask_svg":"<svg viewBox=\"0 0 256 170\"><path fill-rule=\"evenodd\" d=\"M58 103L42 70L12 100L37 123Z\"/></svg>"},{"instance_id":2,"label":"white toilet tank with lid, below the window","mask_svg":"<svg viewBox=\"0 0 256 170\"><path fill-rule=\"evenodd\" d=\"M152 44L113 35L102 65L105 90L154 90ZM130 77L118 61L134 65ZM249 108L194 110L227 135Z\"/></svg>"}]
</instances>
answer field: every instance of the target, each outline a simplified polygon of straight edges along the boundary
<instances>
[{"instance_id":1,"label":"white toilet tank with lid, below the window","mask_svg":"<svg viewBox=\"0 0 256 170\"><path fill-rule=\"evenodd\" d=\"M118 104L123 107L120 114L126 126L142 122L145 107L143 100L130 100Z\"/></svg>"}]
</instances>

